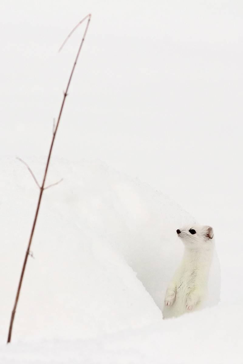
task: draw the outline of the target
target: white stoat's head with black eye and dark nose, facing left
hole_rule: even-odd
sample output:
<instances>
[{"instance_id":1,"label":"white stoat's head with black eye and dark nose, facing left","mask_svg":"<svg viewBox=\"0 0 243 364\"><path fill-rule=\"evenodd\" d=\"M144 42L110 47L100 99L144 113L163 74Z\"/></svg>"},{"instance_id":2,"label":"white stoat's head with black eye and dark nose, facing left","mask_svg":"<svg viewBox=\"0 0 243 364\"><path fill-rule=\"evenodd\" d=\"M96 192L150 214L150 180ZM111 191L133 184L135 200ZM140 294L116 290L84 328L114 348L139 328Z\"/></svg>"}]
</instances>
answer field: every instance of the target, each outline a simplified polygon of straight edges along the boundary
<instances>
[{"instance_id":1,"label":"white stoat's head with black eye and dark nose, facing left","mask_svg":"<svg viewBox=\"0 0 243 364\"><path fill-rule=\"evenodd\" d=\"M213 239L213 228L211 226L190 225L184 229L176 230L183 244L188 247L208 246Z\"/></svg>"}]
</instances>

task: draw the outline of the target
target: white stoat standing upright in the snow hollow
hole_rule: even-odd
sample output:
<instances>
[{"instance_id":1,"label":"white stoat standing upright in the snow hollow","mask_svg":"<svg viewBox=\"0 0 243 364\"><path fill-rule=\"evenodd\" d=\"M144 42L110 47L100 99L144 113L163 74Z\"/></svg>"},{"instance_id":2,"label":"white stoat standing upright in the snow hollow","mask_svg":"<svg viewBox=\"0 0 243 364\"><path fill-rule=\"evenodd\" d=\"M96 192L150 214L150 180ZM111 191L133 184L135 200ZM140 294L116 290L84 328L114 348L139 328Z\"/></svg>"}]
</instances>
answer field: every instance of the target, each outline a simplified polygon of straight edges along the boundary
<instances>
[{"instance_id":1,"label":"white stoat standing upright in the snow hollow","mask_svg":"<svg viewBox=\"0 0 243 364\"><path fill-rule=\"evenodd\" d=\"M165 295L163 318L177 317L200 308L207 293L214 238L211 226L176 230L185 245L184 256Z\"/></svg>"}]
</instances>

